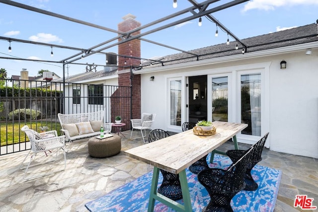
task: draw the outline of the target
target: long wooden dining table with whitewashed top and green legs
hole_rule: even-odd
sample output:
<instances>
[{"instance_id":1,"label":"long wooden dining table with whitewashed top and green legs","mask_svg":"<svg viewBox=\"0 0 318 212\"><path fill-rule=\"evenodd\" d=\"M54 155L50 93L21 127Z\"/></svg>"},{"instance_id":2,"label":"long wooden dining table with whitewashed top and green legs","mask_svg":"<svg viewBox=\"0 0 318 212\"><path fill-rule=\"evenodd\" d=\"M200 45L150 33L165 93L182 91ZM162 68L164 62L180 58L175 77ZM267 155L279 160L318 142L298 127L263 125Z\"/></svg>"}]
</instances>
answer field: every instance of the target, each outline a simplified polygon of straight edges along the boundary
<instances>
[{"instance_id":1,"label":"long wooden dining table with whitewashed top and green legs","mask_svg":"<svg viewBox=\"0 0 318 212\"><path fill-rule=\"evenodd\" d=\"M128 156L154 166L148 212L154 211L155 200L176 211L192 212L185 169L247 127L247 124L219 121L213 122L213 125L216 134L212 136L197 136L193 130L188 130L124 151ZM183 205L157 192L159 169L179 174Z\"/></svg>"}]
</instances>

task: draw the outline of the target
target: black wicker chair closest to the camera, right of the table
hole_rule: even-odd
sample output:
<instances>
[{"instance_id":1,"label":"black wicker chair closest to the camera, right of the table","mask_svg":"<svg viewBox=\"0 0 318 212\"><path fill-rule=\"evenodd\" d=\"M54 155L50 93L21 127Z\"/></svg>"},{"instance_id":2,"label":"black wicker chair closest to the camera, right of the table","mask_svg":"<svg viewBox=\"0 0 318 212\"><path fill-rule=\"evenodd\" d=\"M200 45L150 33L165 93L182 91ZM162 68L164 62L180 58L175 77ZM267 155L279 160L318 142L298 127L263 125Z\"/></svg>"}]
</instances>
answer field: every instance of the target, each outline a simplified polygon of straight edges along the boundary
<instances>
[{"instance_id":1,"label":"black wicker chair closest to the camera, right of the table","mask_svg":"<svg viewBox=\"0 0 318 212\"><path fill-rule=\"evenodd\" d=\"M233 212L231 200L245 187L244 175L252 149L247 149L227 170L209 168L199 172L198 180L211 199L202 212Z\"/></svg>"}]
</instances>

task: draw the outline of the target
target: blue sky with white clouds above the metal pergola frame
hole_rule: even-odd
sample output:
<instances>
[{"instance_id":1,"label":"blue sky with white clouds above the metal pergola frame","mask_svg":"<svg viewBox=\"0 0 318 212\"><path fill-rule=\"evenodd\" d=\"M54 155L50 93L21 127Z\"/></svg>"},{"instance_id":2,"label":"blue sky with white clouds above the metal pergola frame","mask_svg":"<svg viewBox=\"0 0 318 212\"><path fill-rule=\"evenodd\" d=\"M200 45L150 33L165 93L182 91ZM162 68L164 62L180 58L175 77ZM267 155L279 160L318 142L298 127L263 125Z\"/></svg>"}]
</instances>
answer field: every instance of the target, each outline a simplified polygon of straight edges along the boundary
<instances>
[{"instance_id":1,"label":"blue sky with white clouds above the metal pergola frame","mask_svg":"<svg viewBox=\"0 0 318 212\"><path fill-rule=\"evenodd\" d=\"M229 1L220 0L211 4L208 9ZM137 16L136 20L144 25L192 6L187 0L178 0L177 8L172 7L172 0L16 0L16 2L115 30L117 30L117 24L123 21L122 17L128 13ZM0 36L3 37L87 49L117 36L112 32L3 3L0 3L0 11ZM316 23L317 11L318 0L249 0L211 15L230 29L239 39L244 39L285 28ZM190 13L172 20L187 16L190 16ZM159 26L155 25L142 32ZM202 26L198 26L198 20L194 19L147 35L144 38L182 50L193 50L227 41L228 36L225 32L219 29L219 36L215 37L215 31L216 24L203 17ZM230 41L235 42L231 37ZM50 47L11 42L12 52L9 53L8 46L8 41L0 40L0 57L59 61L78 53L78 51L53 48L54 57L52 58ZM117 53L117 46L107 49L105 52ZM142 42L142 58L174 53L178 52ZM105 65L105 56L90 56L77 62ZM22 69L27 69L29 76L37 75L41 69L53 71L59 76L63 76L62 64L0 59L0 68L5 69L8 76L20 75ZM102 69L102 67L97 67L97 71ZM85 66L71 64L66 69L65 74L67 76L81 72L85 72Z\"/></svg>"}]
</instances>

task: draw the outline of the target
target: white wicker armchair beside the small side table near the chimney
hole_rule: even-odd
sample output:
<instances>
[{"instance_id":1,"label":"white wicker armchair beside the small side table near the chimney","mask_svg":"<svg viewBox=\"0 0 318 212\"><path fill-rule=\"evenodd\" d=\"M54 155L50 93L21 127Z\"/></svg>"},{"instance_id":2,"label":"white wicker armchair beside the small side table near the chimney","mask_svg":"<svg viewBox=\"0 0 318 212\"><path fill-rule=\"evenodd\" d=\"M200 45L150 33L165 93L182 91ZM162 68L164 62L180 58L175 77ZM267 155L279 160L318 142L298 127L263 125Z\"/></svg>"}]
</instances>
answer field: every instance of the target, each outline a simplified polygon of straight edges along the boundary
<instances>
[{"instance_id":1,"label":"white wicker armchair beside the small side table near the chimney","mask_svg":"<svg viewBox=\"0 0 318 212\"><path fill-rule=\"evenodd\" d=\"M156 118L156 114L143 113L143 116L141 119L131 119L130 121L131 121L132 130L131 130L131 134L130 134L130 139L143 138L144 143L146 143L146 141L145 141L146 130L152 129L151 127L155 121L155 118ZM140 130L141 137L132 138L134 129ZM145 134L143 133L143 130L144 130Z\"/></svg>"}]
</instances>

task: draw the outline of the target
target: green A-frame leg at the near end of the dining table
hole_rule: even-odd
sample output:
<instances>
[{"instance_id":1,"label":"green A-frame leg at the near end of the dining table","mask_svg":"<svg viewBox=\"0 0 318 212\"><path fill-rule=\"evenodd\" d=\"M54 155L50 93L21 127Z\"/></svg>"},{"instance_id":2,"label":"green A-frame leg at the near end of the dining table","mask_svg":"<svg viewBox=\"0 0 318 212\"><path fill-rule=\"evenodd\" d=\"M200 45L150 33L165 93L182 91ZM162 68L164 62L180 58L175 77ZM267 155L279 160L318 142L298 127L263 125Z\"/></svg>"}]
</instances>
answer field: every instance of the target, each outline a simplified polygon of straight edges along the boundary
<instances>
[{"instance_id":1,"label":"green A-frame leg at the near end of the dining table","mask_svg":"<svg viewBox=\"0 0 318 212\"><path fill-rule=\"evenodd\" d=\"M154 212L155 200L158 200L159 202L163 203L164 205L166 205L166 206L168 206L168 207L170 207L178 212L192 212L190 192L189 192L189 187L188 187L187 176L186 176L185 170L183 170L179 173L179 180L180 180L180 184L181 184L184 205L181 205L180 203L177 203L173 200L170 200L169 198L157 193L158 178L159 178L159 168L155 167L153 179L152 179L152 184L151 184L151 189L150 189L148 212Z\"/></svg>"}]
</instances>

